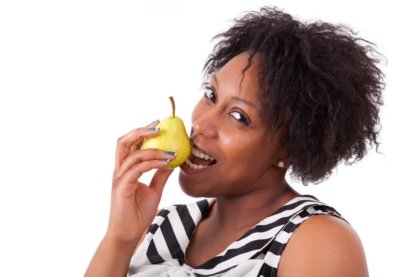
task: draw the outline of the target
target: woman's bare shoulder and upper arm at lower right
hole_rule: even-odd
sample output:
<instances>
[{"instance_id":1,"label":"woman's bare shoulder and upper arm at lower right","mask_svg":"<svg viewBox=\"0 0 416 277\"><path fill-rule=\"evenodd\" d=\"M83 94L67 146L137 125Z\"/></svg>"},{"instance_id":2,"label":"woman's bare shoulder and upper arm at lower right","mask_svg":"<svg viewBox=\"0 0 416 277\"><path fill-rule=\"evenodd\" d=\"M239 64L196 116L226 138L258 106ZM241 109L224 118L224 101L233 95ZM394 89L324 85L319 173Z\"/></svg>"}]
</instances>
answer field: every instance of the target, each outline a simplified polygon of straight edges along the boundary
<instances>
[{"instance_id":1,"label":"woman's bare shoulder and upper arm at lower right","mask_svg":"<svg viewBox=\"0 0 416 277\"><path fill-rule=\"evenodd\" d=\"M367 277L363 244L344 220L315 215L291 236L281 255L277 276Z\"/></svg>"}]
</instances>

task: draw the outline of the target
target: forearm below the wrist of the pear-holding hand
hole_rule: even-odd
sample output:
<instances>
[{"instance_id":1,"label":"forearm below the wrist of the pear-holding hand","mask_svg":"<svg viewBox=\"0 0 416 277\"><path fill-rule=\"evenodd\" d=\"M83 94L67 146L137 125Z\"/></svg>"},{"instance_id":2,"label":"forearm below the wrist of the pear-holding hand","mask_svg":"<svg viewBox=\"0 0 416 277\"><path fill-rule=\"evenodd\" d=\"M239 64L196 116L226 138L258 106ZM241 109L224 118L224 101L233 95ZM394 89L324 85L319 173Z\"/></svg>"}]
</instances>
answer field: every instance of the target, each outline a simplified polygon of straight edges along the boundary
<instances>
[{"instance_id":1,"label":"forearm below the wrist of the pear-holding hand","mask_svg":"<svg viewBox=\"0 0 416 277\"><path fill-rule=\"evenodd\" d=\"M138 243L138 242L137 242ZM125 277L137 243L115 242L103 238L84 277Z\"/></svg>"}]
</instances>

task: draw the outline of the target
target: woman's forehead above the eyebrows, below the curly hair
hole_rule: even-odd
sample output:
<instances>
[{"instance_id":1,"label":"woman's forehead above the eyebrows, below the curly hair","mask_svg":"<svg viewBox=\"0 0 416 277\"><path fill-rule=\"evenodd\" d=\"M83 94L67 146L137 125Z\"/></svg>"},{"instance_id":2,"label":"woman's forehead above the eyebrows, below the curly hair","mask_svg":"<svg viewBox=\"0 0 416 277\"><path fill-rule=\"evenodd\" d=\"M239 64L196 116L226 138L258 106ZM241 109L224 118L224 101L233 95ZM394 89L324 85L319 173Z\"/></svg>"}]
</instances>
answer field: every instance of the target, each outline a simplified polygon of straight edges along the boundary
<instances>
[{"instance_id":1,"label":"woman's forehead above the eyebrows, below the curly hair","mask_svg":"<svg viewBox=\"0 0 416 277\"><path fill-rule=\"evenodd\" d=\"M219 93L227 93L230 97L240 96L246 100L258 102L259 73L262 69L262 64L259 57L254 56L252 64L250 68L244 72L243 78L243 70L248 65L249 56L248 52L244 52L233 57L232 60L229 60L229 62L216 73L216 78L218 80L217 89ZM212 82L215 82L213 78L211 78L211 83Z\"/></svg>"}]
</instances>

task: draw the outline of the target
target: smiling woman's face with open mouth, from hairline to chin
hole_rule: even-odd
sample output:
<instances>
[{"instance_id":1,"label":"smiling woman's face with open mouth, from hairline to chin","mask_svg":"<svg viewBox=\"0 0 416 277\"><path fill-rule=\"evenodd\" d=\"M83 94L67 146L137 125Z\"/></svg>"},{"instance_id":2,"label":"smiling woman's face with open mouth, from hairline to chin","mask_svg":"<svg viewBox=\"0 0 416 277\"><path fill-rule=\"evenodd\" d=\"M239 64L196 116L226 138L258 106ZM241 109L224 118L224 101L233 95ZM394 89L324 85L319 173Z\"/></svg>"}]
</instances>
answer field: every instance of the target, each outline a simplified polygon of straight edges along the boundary
<instances>
[{"instance_id":1,"label":"smiling woman's face with open mouth, from hairline to chin","mask_svg":"<svg viewBox=\"0 0 416 277\"><path fill-rule=\"evenodd\" d=\"M243 79L248 57L248 53L234 57L213 75L193 109L193 150L179 176L187 195L241 195L270 185L281 174L276 164L283 150L278 137L270 140L268 120L261 120L260 115L257 76L261 61L254 59Z\"/></svg>"}]
</instances>

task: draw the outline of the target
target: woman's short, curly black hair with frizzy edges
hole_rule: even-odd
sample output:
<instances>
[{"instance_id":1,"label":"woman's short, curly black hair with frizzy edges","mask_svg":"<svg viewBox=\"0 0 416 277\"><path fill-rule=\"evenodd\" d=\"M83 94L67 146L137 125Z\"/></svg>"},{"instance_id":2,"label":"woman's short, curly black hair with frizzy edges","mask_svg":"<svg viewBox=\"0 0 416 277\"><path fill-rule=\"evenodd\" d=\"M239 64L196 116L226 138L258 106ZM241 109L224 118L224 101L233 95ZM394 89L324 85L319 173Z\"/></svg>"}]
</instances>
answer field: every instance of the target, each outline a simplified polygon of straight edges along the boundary
<instances>
[{"instance_id":1,"label":"woman's short, curly black hair with frizzy edges","mask_svg":"<svg viewBox=\"0 0 416 277\"><path fill-rule=\"evenodd\" d=\"M271 136L290 153L291 177L305 186L327 179L341 161L348 166L379 144L379 106L384 74L382 56L371 42L344 24L301 22L275 7L245 12L234 19L205 63L205 78L243 52L261 58L262 117L271 118ZM382 56L383 57L383 56ZM354 161L349 160L355 157Z\"/></svg>"}]
</instances>

